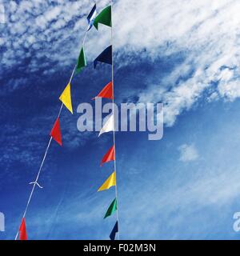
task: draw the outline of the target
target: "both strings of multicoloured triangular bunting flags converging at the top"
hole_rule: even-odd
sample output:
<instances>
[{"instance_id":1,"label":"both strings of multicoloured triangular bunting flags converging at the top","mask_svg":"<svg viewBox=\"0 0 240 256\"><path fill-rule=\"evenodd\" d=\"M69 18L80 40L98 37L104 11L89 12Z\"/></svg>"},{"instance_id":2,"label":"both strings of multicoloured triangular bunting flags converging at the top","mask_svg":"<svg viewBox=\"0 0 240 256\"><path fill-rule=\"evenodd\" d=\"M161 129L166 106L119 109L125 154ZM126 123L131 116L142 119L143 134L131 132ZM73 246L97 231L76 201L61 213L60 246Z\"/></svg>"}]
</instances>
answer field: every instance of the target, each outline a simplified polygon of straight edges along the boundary
<instances>
[{"instance_id":1,"label":"both strings of multicoloured triangular bunting flags converging at the top","mask_svg":"<svg viewBox=\"0 0 240 256\"><path fill-rule=\"evenodd\" d=\"M61 134L61 128L60 128L60 115L62 113L62 107L66 106L66 109L70 111L71 114L73 114L73 107L72 107L72 101L71 101L71 82L72 79L74 78L74 74L78 74L82 71L84 67L86 67L86 55L84 51L84 45L86 41L86 34L87 32L94 26L98 30L98 24L101 23L106 26L110 26L112 29L112 6L107 6L100 14L97 16L97 11L96 11L96 4L90 11L90 14L87 16L87 21L88 21L88 28L86 30L83 42L82 42L82 48L80 50L80 54L78 56L77 64L74 66L74 70L70 76L70 81L68 82L65 90L63 90L61 96L59 97L59 100L62 102L62 105L60 107L58 117L56 118L56 121L54 122L54 126L52 130L50 131L50 141L48 143L48 146L46 147L46 152L44 154L44 157L42 159L41 166L38 170L38 175L37 178L35 179L34 182L30 182L30 184L33 184L33 188L30 193L30 197L28 199L28 202L26 204L26 209L24 211L23 217L22 217L22 222L19 227L18 233L16 234L15 240L27 240L27 233L26 233L26 213L28 210L28 207L30 206L30 201L31 198L34 194L35 187L38 186L39 188L42 189L42 186L38 184L38 178L40 177L41 171L42 171L42 166L46 160L46 155L48 153L48 150L50 148L50 144L52 140L54 139L55 142L57 142L60 146L62 146L62 134ZM113 31L112 31L113 33ZM103 89L102 91L98 94L97 97L95 98L109 98L112 100L113 105L114 105L114 65L113 65L113 47L108 46L106 50L103 50L101 54L98 55L98 57L94 60L94 68L97 67L98 62L103 62L110 64L112 66L112 79L111 82L109 82ZM119 237L119 232L118 232L118 196L117 196L117 178L116 178L116 158L115 158L115 130L114 130L114 113L110 116L110 118L107 120L105 125L102 127L102 130L100 131L100 134L104 134L107 132L113 131L114 134L114 146L108 150L108 152L104 155L102 158L101 166L103 163L114 161L114 172L110 174L110 177L106 179L106 182L102 184L102 186L98 189L98 191L102 190L109 190L110 187L115 186L115 198L114 201L110 203L109 208L106 210L106 214L104 218L110 217L112 214L117 212L117 222L114 225L113 230L110 233L110 239L114 240L116 234L118 233L118 239ZM98 136L98 137L99 137Z\"/></svg>"}]
</instances>

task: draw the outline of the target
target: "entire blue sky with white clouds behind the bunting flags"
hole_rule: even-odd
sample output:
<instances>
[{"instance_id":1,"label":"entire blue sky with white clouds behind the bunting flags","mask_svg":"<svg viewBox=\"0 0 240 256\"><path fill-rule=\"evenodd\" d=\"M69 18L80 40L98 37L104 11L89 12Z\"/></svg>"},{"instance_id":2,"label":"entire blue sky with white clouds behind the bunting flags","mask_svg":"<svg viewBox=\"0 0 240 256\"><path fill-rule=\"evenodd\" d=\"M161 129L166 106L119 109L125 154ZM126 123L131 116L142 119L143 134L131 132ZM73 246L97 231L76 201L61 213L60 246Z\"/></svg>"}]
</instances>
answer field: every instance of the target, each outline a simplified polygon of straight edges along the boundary
<instances>
[{"instance_id":1,"label":"entire blue sky with white clouds behind the bunting flags","mask_svg":"<svg viewBox=\"0 0 240 256\"><path fill-rule=\"evenodd\" d=\"M1 24L1 239L13 239L78 57L94 2L10 1ZM98 11L107 1L98 2ZM239 2L119 0L114 5L115 98L164 103L164 136L116 134L121 238L238 239L240 211ZM110 81L92 61L110 28L90 30L88 66L72 82L74 115L60 119L63 147L50 152L26 215L30 239L108 239L103 220L113 171L99 167L112 134L80 133L78 104Z\"/></svg>"}]
</instances>

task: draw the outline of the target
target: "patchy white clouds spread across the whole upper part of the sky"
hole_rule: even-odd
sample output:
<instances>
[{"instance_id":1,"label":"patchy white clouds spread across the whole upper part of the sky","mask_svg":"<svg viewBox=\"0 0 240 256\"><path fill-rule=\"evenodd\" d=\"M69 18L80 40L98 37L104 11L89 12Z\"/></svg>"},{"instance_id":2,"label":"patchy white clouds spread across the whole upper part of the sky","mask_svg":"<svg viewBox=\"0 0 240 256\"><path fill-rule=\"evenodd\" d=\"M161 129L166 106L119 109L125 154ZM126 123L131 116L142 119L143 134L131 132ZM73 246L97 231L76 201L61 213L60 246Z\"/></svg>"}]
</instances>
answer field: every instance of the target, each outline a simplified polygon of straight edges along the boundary
<instances>
[{"instance_id":1,"label":"patchy white clouds spread across the whole upper part of the sky","mask_svg":"<svg viewBox=\"0 0 240 256\"><path fill-rule=\"evenodd\" d=\"M108 1L98 2L98 11ZM74 65L86 29L86 14L92 2L10 1L6 6L6 30L0 37L2 71L30 58L28 69L44 67L42 58L54 62L43 74ZM208 101L219 97L234 101L239 91L240 20L238 0L119 0L114 4L114 49L121 65L131 65L134 58L146 56L151 62L182 54L182 61L172 64L170 74L146 78L148 87L140 93L140 102L165 103L166 126L173 126L184 110L190 110L203 92L210 90ZM80 17L80 15L85 15ZM70 23L72 26L70 26ZM18 40L16 40L18 39ZM98 42L98 43L96 43ZM110 43L109 28L90 31L86 54L93 59ZM28 52L26 53L26 49ZM118 64L118 67L120 64ZM162 74L162 70L158 70ZM213 82L218 86L212 90ZM138 91L135 93L139 93ZM218 97L217 97L218 96Z\"/></svg>"}]
</instances>

